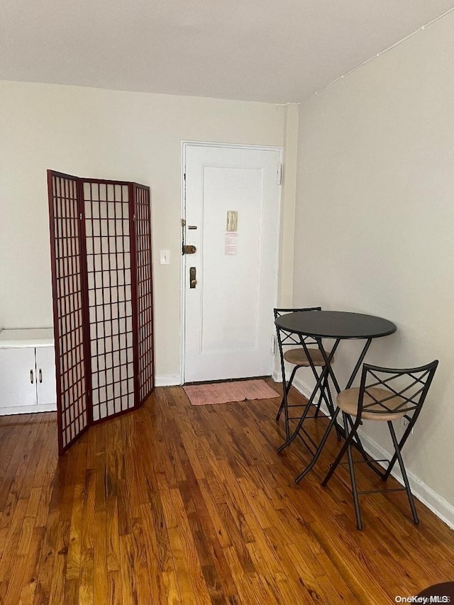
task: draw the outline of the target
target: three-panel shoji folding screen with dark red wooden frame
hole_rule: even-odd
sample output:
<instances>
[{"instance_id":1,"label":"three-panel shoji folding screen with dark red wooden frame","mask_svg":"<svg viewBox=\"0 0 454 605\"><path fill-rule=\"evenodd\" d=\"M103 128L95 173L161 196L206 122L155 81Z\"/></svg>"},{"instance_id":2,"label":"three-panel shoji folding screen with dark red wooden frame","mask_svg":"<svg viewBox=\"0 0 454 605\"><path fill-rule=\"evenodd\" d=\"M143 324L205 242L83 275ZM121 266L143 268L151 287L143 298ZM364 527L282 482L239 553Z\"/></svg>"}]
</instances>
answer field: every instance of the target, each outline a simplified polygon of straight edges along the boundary
<instances>
[{"instance_id":1,"label":"three-panel shoji folding screen with dark red wooden frame","mask_svg":"<svg viewBox=\"0 0 454 605\"><path fill-rule=\"evenodd\" d=\"M154 388L150 189L48 171L60 453Z\"/></svg>"}]
</instances>

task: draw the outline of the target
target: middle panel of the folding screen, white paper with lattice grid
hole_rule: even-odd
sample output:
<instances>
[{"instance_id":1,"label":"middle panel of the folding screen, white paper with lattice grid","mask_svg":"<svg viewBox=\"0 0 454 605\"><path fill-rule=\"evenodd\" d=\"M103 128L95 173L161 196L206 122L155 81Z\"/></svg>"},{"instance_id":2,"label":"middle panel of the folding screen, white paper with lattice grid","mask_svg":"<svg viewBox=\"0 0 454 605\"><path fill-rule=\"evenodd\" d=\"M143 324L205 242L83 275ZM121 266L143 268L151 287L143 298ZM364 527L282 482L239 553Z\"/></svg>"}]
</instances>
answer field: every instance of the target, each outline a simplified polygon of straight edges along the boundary
<instances>
[{"instance_id":1,"label":"middle panel of the folding screen, white paper with lattice grid","mask_svg":"<svg viewBox=\"0 0 454 605\"><path fill-rule=\"evenodd\" d=\"M93 421L133 408L127 185L84 183Z\"/></svg>"}]
</instances>

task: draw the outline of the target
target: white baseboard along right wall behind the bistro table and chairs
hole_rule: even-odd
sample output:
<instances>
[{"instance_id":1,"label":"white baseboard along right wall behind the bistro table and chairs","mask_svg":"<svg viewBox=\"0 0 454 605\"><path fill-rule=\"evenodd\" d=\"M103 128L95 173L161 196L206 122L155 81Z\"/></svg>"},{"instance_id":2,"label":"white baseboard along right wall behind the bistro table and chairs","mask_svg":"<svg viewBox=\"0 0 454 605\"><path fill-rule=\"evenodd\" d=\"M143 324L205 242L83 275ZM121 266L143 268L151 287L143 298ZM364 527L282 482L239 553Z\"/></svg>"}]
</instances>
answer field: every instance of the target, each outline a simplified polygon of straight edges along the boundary
<instances>
[{"instance_id":1,"label":"white baseboard along right wall behind the bistro table and chairs","mask_svg":"<svg viewBox=\"0 0 454 605\"><path fill-rule=\"evenodd\" d=\"M280 377L280 376L279 376ZM274 376L273 376L274 379ZM282 382L279 381L279 382ZM295 377L293 386L297 391L303 394L307 399L311 396L311 387L303 382L299 377ZM321 405L321 411L328 413L326 404ZM366 435L363 431L360 431L361 443L368 454L375 458L375 460L390 460L392 453L384 450L375 440ZM382 465L384 466L384 465ZM399 465L395 465L392 470L392 476L397 479L400 484L404 484L402 474L399 469ZM410 487L412 494L423 504L427 506L429 510L436 514L441 521L444 521L451 529L454 529L454 506L445 500L440 494L434 492L431 487L428 487L416 474L407 470L406 474L409 477Z\"/></svg>"}]
</instances>

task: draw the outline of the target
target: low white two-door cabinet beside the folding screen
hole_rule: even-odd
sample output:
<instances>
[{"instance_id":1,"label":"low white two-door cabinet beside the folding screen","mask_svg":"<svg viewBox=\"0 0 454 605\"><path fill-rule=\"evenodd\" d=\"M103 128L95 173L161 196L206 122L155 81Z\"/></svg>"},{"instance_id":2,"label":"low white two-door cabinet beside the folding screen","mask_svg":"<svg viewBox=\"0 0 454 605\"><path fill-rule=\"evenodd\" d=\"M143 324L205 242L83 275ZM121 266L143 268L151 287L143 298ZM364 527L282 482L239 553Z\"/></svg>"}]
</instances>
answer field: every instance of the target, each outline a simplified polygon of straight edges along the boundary
<instances>
[{"instance_id":1,"label":"low white two-door cabinet beside the folding screen","mask_svg":"<svg viewBox=\"0 0 454 605\"><path fill-rule=\"evenodd\" d=\"M52 329L0 332L0 416L55 411Z\"/></svg>"}]
</instances>

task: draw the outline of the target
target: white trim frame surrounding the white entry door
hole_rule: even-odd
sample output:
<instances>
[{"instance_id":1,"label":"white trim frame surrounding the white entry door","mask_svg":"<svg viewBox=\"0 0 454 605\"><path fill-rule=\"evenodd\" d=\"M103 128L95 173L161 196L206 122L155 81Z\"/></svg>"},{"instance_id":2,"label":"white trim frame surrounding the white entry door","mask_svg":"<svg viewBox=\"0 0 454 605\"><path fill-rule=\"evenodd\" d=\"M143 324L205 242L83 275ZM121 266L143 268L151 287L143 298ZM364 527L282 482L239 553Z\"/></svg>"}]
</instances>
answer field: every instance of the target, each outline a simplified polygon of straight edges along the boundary
<instances>
[{"instance_id":1,"label":"white trim frame surrounding the white entry door","mask_svg":"<svg viewBox=\"0 0 454 605\"><path fill-rule=\"evenodd\" d=\"M181 152L181 218L186 218L186 187L184 182L184 168L186 166L186 150L189 147L211 147L211 148L223 148L223 149L251 149L256 151L277 151L279 153L279 163L282 166L284 157L284 148L277 145L242 145L241 143L212 143L208 141L196 141L196 140L182 140L182 152ZM282 174L282 172L281 172ZM277 176L277 175L276 175ZM277 306L277 300L279 297L279 267L282 255L282 242L280 238L281 222L282 222L282 177L279 188L279 194L277 196L277 209L276 209L276 241L277 249L274 262L274 279L275 279L275 294L273 296L273 305ZM184 384L184 367L185 367L185 350L186 350L186 296L184 291L184 277L186 273L186 260L184 255L181 254L182 250L182 228L180 226L179 235L179 253L181 256L179 272L180 272L180 306L179 306L179 325L180 325L180 351L179 351L179 383ZM271 348L271 343L270 343ZM275 356L270 353L270 374L273 372Z\"/></svg>"}]
</instances>

